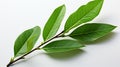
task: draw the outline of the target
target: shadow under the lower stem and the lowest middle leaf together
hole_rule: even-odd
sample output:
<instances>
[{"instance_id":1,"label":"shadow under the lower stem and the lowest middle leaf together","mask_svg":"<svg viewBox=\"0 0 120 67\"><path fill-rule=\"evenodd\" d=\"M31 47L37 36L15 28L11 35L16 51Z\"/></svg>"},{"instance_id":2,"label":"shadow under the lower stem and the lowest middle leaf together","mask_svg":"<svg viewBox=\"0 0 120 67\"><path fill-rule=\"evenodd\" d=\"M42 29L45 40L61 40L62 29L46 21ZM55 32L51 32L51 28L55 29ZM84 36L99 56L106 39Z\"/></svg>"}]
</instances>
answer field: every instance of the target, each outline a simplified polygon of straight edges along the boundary
<instances>
[{"instance_id":1,"label":"shadow under the lower stem and the lowest middle leaf together","mask_svg":"<svg viewBox=\"0 0 120 67\"><path fill-rule=\"evenodd\" d=\"M16 63L12 64L11 66L28 62L28 60L34 58L35 56L41 55L41 54L45 54L45 55L49 56L52 59L67 60L67 59L71 59L73 57L82 55L84 52L85 51L81 50L81 49L76 49L76 50L72 50L72 51L68 51L68 52L61 52L61 53L41 53L40 52L40 53L37 53L36 55L33 55L33 56L29 57L29 58L22 59L22 60L20 60L20 61L18 61Z\"/></svg>"}]
</instances>

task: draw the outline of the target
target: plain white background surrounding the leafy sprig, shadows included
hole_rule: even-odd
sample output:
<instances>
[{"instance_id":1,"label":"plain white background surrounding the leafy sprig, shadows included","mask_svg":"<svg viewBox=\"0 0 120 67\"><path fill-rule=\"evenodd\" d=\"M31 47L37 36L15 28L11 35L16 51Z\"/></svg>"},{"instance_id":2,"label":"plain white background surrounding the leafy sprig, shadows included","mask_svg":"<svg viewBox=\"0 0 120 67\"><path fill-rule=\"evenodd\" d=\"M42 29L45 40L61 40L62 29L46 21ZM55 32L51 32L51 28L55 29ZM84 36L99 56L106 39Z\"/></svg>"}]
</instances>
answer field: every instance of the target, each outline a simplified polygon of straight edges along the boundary
<instances>
[{"instance_id":1,"label":"plain white background surrounding the leafy sprig, shadows included","mask_svg":"<svg viewBox=\"0 0 120 67\"><path fill-rule=\"evenodd\" d=\"M67 8L64 25L70 13L88 1L90 0L0 0L0 67L6 67L13 56L14 41L21 32L36 25L43 29L52 11L62 4ZM36 51L12 67L120 67L120 0L105 0L100 15L92 22L109 23L118 27L82 51L56 55Z\"/></svg>"}]
</instances>

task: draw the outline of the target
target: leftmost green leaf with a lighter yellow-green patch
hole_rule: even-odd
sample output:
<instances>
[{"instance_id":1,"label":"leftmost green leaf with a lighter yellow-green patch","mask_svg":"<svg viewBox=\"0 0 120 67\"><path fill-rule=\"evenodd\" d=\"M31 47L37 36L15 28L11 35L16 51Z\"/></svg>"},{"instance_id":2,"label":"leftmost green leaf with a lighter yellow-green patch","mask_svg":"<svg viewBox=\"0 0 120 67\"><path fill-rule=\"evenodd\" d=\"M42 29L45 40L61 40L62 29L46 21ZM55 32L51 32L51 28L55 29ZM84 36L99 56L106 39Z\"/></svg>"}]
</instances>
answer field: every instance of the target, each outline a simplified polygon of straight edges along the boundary
<instances>
[{"instance_id":1,"label":"leftmost green leaf with a lighter yellow-green patch","mask_svg":"<svg viewBox=\"0 0 120 67\"><path fill-rule=\"evenodd\" d=\"M40 27L36 26L32 29L24 31L15 41L14 57L23 55L34 47L40 35Z\"/></svg>"}]
</instances>

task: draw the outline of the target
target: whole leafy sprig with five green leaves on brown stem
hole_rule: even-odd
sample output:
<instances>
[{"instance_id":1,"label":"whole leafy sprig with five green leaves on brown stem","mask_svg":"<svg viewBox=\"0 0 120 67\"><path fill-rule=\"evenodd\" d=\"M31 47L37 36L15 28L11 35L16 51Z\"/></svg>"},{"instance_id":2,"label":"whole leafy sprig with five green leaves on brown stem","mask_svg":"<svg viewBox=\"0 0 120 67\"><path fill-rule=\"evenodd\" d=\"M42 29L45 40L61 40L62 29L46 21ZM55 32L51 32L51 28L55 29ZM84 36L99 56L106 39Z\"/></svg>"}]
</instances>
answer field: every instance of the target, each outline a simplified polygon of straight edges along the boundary
<instances>
[{"instance_id":1,"label":"whole leafy sprig with five green leaves on brown stem","mask_svg":"<svg viewBox=\"0 0 120 67\"><path fill-rule=\"evenodd\" d=\"M64 30L57 35L56 33L64 18L66 7L62 5L56 8L44 26L44 42L33 48L40 36L41 29L39 26L24 31L15 41L14 57L11 58L7 67L39 49L43 49L48 53L71 51L84 47L82 43L95 41L110 33L116 26L103 23L87 23L98 16L103 2L104 0L93 0L79 7L68 17ZM66 35L72 29L75 30ZM60 37L71 37L71 39L52 41Z\"/></svg>"}]
</instances>

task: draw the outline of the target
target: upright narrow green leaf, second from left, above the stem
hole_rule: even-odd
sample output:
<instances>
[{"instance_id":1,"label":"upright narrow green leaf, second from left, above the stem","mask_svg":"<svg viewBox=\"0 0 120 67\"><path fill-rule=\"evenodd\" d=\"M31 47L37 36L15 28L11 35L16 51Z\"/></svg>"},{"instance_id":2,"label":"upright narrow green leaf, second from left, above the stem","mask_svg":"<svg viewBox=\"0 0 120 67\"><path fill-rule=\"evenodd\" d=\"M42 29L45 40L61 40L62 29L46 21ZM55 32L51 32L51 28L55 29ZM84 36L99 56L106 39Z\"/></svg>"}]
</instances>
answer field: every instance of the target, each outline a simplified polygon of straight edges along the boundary
<instances>
[{"instance_id":1,"label":"upright narrow green leaf, second from left, above the stem","mask_svg":"<svg viewBox=\"0 0 120 67\"><path fill-rule=\"evenodd\" d=\"M62 5L54 10L43 30L44 41L50 39L57 33L61 25L61 21L64 18L65 11L65 5Z\"/></svg>"}]
</instances>

